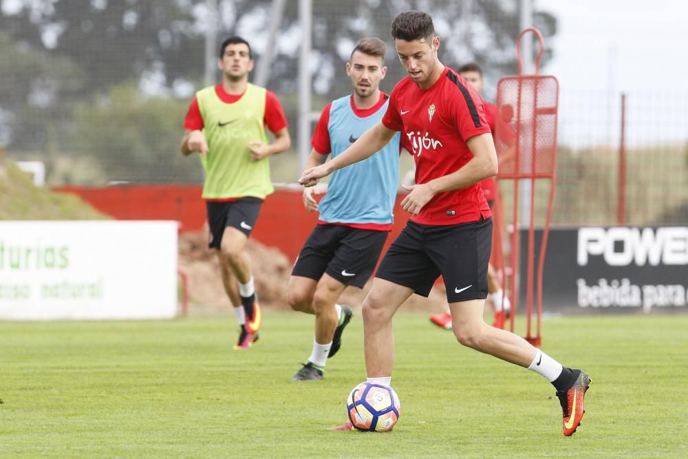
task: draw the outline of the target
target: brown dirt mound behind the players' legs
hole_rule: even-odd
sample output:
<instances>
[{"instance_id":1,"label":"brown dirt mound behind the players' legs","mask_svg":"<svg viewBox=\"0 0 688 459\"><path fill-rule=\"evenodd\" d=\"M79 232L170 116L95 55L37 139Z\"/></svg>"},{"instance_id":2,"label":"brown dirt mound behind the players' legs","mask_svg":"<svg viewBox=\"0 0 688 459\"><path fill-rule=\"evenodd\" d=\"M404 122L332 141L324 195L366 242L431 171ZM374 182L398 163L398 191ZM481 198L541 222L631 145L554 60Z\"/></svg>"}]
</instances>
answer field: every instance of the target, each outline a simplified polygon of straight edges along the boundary
<instances>
[{"instance_id":1,"label":"brown dirt mound behind the players' legs","mask_svg":"<svg viewBox=\"0 0 688 459\"><path fill-rule=\"evenodd\" d=\"M292 263L277 248L264 246L249 239L246 248L251 259L256 289L264 308L289 309L286 302L287 285ZM217 255L208 249L208 232L185 233L179 240L179 266L189 276L189 299L191 306L208 309L230 309L232 307L219 276ZM354 309L361 303L372 286L372 279L365 288L347 288L341 296L341 303ZM412 295L403 309L440 312L447 306L444 286L436 286L429 298Z\"/></svg>"}]
</instances>

